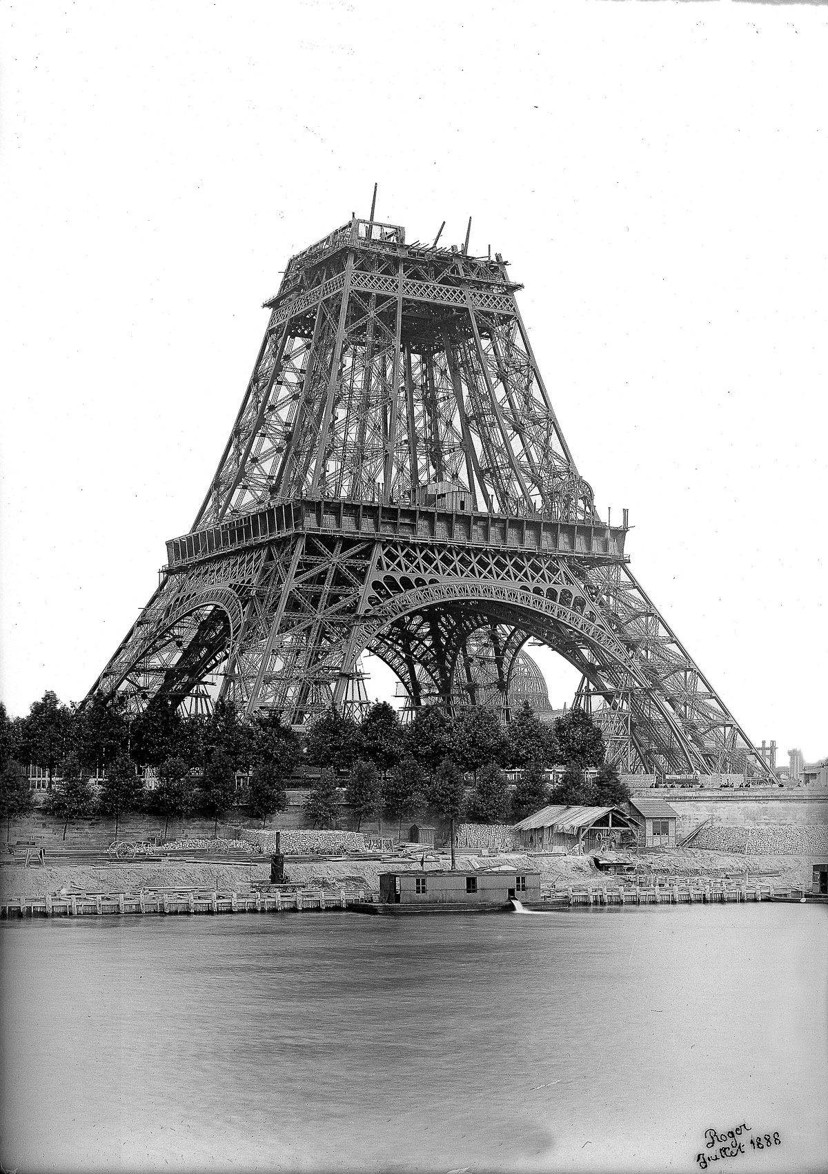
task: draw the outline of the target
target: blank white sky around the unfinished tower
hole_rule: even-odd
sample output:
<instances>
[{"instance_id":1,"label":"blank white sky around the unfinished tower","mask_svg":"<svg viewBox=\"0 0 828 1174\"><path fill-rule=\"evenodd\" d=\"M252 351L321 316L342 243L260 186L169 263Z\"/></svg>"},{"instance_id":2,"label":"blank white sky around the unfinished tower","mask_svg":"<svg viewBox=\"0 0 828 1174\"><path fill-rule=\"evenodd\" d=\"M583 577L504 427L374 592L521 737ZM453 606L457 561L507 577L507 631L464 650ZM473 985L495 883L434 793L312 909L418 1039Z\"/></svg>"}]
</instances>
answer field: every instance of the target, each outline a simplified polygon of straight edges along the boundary
<instances>
[{"instance_id":1,"label":"blank white sky around the unfinished tower","mask_svg":"<svg viewBox=\"0 0 828 1174\"><path fill-rule=\"evenodd\" d=\"M80 700L186 532L288 257L501 251L632 568L755 740L828 754L828 9L0 8L0 696ZM572 674L559 674L552 700ZM563 683L561 683L563 682ZM571 683L566 683L571 688Z\"/></svg>"}]
</instances>

